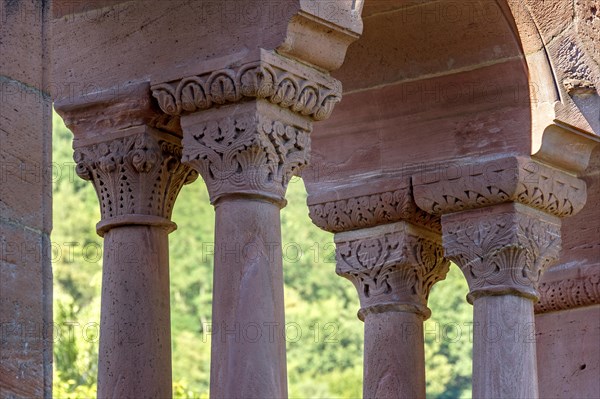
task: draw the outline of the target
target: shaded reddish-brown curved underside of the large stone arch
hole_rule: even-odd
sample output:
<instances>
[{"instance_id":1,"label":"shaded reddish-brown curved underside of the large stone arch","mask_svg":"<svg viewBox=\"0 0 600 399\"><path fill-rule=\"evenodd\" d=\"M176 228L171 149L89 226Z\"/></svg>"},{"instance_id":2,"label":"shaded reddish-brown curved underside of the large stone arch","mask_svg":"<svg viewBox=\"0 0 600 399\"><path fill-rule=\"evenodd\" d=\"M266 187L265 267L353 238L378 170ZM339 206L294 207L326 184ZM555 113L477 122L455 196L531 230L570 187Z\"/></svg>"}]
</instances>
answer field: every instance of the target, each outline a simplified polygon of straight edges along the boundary
<instances>
[{"instance_id":1,"label":"shaded reddish-brown curved underside of the large stone arch","mask_svg":"<svg viewBox=\"0 0 600 399\"><path fill-rule=\"evenodd\" d=\"M309 193L311 173L324 183L529 152L527 64L498 3L366 1L363 23L333 73L343 101L315 126Z\"/></svg>"}]
</instances>

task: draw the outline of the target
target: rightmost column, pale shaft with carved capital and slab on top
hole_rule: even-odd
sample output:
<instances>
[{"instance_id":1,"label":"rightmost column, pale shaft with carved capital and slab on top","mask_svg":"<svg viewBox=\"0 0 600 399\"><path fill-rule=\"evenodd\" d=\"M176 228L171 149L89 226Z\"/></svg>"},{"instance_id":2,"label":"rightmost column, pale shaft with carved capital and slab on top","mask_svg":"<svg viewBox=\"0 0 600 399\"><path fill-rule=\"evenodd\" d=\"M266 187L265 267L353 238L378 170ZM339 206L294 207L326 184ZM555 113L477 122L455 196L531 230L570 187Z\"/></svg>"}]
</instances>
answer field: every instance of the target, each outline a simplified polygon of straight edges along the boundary
<instances>
[{"instance_id":1,"label":"rightmost column, pale shaft with carved capital and slab on top","mask_svg":"<svg viewBox=\"0 0 600 399\"><path fill-rule=\"evenodd\" d=\"M527 158L462 166L413 181L417 204L443 215L446 256L469 283L473 397L535 398L537 284L558 259L560 218L585 204L585 183Z\"/></svg>"}]
</instances>

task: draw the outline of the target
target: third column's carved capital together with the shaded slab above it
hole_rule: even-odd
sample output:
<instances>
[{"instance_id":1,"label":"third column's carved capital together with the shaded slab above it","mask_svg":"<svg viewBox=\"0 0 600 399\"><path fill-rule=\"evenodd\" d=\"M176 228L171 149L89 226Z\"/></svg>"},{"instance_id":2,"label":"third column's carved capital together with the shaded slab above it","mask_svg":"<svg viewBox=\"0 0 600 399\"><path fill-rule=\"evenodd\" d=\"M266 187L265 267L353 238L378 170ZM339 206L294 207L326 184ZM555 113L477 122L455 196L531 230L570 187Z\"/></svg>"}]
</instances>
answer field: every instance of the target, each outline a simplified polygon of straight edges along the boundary
<instances>
[{"instance_id":1,"label":"third column's carved capital together with the shaded slab above it","mask_svg":"<svg viewBox=\"0 0 600 399\"><path fill-rule=\"evenodd\" d=\"M417 208L409 178L339 186L308 203L313 223L335 233L336 271L356 286L361 320L386 312L429 317L429 291L446 277L449 262L440 219Z\"/></svg>"}]
</instances>

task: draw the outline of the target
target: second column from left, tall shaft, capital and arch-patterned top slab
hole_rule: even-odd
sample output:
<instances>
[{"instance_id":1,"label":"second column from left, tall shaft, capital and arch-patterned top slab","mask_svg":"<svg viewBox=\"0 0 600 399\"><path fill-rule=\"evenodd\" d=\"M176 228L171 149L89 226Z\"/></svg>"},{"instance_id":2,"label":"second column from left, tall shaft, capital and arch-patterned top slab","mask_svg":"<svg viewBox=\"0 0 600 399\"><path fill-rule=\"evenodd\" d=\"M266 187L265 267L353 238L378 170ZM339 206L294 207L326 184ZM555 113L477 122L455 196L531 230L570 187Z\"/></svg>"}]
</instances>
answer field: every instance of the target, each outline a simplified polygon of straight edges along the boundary
<instances>
[{"instance_id":1,"label":"second column from left, tall shaft, capital and arch-patterned top slab","mask_svg":"<svg viewBox=\"0 0 600 399\"><path fill-rule=\"evenodd\" d=\"M285 398L280 209L308 163L312 121L331 114L339 83L263 52L153 90L165 113L180 115L184 161L216 211L211 396Z\"/></svg>"}]
</instances>

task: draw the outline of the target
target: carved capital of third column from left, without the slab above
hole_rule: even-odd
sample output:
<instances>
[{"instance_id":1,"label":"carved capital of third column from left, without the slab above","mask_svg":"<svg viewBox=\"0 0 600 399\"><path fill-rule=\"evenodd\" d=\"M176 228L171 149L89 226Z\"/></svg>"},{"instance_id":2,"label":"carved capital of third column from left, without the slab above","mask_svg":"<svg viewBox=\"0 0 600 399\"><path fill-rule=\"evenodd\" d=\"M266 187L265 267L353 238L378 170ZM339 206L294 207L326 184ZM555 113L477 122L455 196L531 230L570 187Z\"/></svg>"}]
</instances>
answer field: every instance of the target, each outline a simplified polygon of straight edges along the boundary
<instances>
[{"instance_id":1,"label":"carved capital of third column from left, without the slab above","mask_svg":"<svg viewBox=\"0 0 600 399\"><path fill-rule=\"evenodd\" d=\"M335 236L337 273L354 283L364 320L369 312L414 312L428 318L427 298L449 262L439 236L399 222Z\"/></svg>"}]
</instances>

